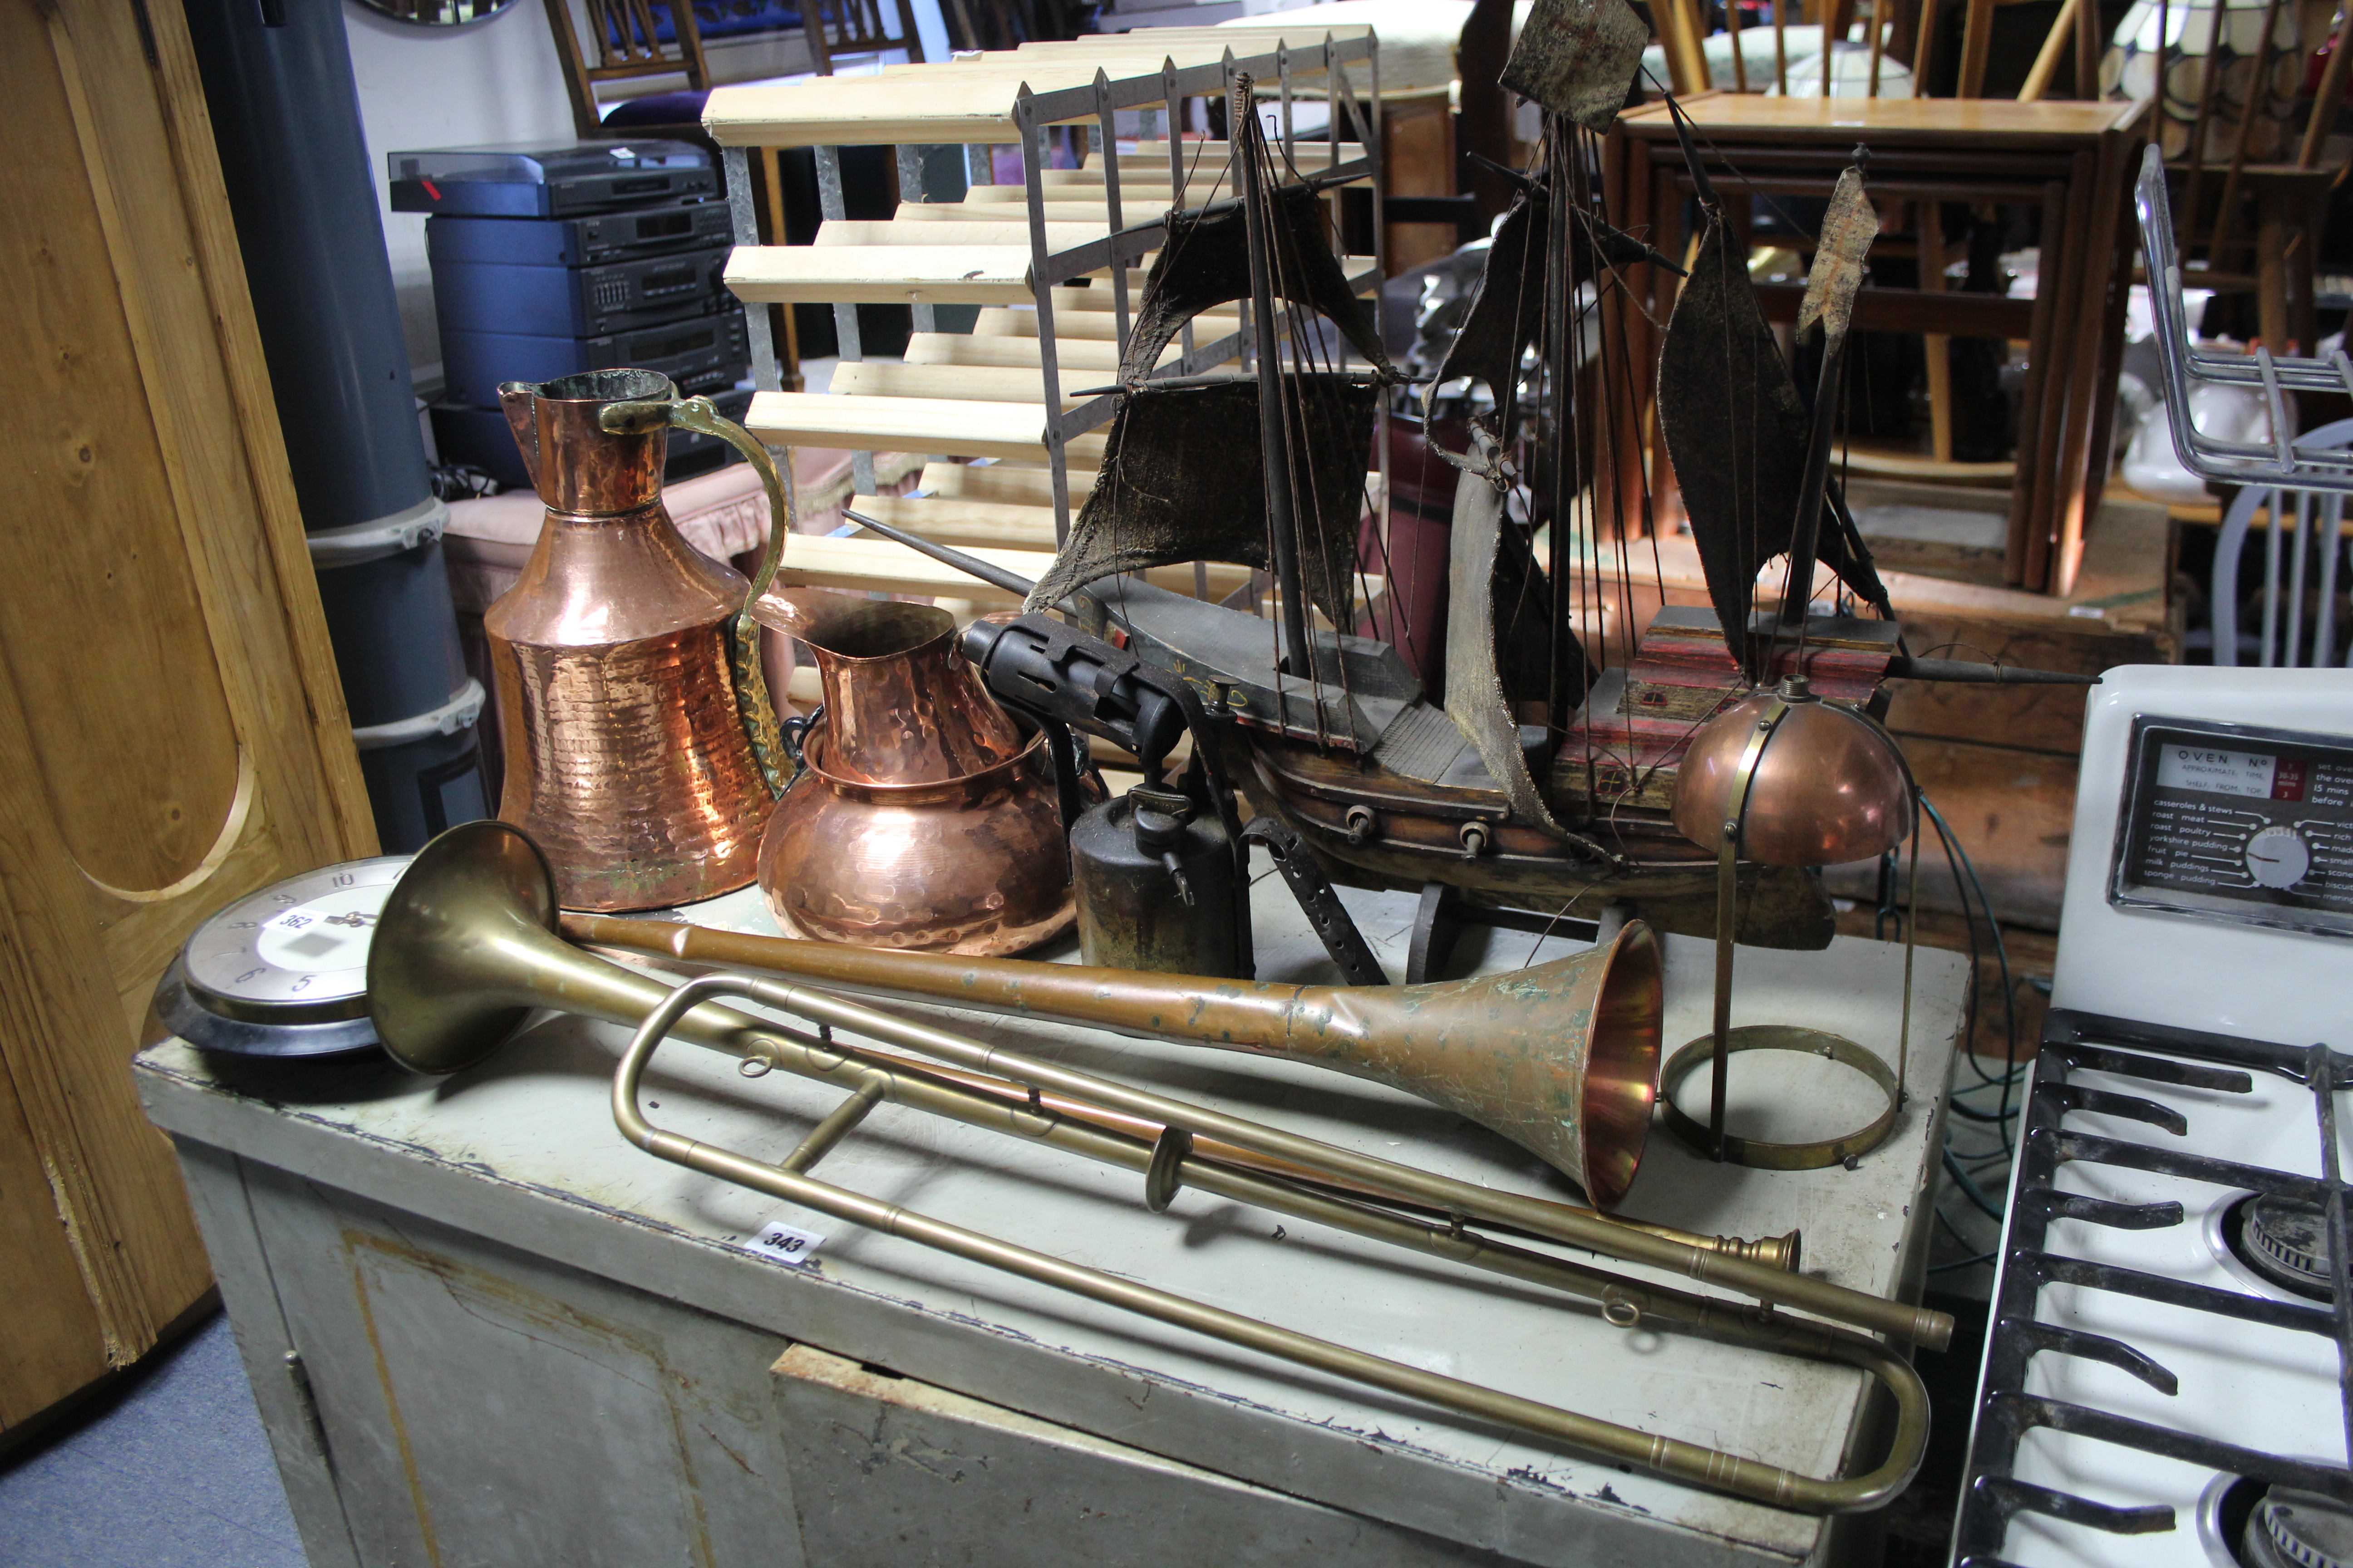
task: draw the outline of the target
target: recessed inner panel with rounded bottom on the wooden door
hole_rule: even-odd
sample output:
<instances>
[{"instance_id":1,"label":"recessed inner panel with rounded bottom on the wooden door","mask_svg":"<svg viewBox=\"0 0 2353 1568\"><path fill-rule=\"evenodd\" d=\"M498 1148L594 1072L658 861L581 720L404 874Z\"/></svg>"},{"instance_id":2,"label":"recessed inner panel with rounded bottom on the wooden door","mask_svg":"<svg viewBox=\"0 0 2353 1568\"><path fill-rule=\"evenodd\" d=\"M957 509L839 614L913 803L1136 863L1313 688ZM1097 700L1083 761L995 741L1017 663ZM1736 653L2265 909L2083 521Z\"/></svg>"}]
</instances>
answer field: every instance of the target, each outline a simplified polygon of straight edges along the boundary
<instances>
[{"instance_id":1,"label":"recessed inner panel with rounded bottom on the wooden door","mask_svg":"<svg viewBox=\"0 0 2353 1568\"><path fill-rule=\"evenodd\" d=\"M205 607L148 411L64 63L31 7L0 12L21 158L0 158L0 331L19 346L0 463L0 658L75 865L151 893L193 872L228 820L238 745ZM75 630L80 628L80 630ZM129 677L129 679L125 679ZM89 759L108 766L92 769Z\"/></svg>"}]
</instances>

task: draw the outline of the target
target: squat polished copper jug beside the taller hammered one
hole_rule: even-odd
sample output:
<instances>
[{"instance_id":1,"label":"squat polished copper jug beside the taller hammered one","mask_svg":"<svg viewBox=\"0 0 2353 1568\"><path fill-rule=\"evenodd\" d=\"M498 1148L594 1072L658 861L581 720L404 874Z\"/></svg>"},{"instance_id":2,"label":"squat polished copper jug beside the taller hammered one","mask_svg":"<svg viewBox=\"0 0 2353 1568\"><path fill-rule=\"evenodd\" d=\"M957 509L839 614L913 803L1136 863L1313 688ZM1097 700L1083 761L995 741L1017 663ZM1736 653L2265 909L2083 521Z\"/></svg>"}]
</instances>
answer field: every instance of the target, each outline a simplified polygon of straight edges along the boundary
<instances>
[{"instance_id":1,"label":"squat polished copper jug beside the taller hammered one","mask_svg":"<svg viewBox=\"0 0 2353 1568\"><path fill-rule=\"evenodd\" d=\"M1021 726L934 604L772 592L753 614L816 656L824 710L760 844L788 936L1007 954L1071 929L1045 731Z\"/></svg>"}]
</instances>

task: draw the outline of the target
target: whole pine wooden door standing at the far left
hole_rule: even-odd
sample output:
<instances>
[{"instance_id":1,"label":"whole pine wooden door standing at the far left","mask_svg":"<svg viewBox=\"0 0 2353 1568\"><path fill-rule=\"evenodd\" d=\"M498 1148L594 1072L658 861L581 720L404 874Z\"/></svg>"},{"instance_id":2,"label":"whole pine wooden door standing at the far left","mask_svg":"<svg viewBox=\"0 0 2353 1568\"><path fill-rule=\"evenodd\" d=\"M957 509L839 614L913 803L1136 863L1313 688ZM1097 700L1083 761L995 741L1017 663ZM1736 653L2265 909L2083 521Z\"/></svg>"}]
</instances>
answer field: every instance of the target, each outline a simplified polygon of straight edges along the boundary
<instances>
[{"instance_id":1,"label":"whole pine wooden door standing at the far left","mask_svg":"<svg viewBox=\"0 0 2353 1568\"><path fill-rule=\"evenodd\" d=\"M0 1276L42 1298L0 1298L0 1340L85 1347L0 1356L12 1425L209 1284L127 1072L155 976L224 903L376 844L176 0L0 0L0 343L28 367L0 433L0 1070L45 1175L0 1159Z\"/></svg>"}]
</instances>

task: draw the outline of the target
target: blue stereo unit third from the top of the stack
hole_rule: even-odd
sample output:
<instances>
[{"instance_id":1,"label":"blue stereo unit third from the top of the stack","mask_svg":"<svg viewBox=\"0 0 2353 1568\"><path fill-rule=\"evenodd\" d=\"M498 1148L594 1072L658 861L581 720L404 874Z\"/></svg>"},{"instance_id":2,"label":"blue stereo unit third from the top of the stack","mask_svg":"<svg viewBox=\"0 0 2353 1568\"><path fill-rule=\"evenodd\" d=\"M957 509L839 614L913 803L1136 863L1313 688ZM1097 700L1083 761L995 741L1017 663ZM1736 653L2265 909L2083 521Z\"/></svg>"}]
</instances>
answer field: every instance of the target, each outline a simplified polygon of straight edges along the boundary
<instances>
[{"instance_id":1,"label":"blue stereo unit third from the top of the stack","mask_svg":"<svg viewBox=\"0 0 2353 1568\"><path fill-rule=\"evenodd\" d=\"M732 303L720 282L725 244L605 266L433 263L442 331L600 339L609 331L713 315Z\"/></svg>"}]
</instances>

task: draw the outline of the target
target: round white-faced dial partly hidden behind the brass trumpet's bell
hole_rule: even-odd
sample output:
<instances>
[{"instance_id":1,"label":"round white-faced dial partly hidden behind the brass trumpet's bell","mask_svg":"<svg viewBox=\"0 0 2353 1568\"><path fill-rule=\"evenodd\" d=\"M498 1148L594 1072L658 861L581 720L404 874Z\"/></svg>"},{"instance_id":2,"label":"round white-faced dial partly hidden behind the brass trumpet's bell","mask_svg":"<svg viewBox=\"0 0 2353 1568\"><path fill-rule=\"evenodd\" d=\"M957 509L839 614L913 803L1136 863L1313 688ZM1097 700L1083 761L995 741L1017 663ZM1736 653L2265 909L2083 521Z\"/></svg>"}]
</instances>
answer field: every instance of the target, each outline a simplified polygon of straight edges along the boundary
<instances>
[{"instance_id":1,"label":"round white-faced dial partly hidden behind the brass trumpet's bell","mask_svg":"<svg viewBox=\"0 0 2353 1568\"><path fill-rule=\"evenodd\" d=\"M322 865L228 905L188 938L155 987L155 1016L202 1051L358 1056L367 943L412 856Z\"/></svg>"}]
</instances>

